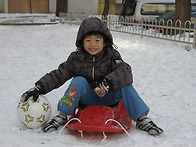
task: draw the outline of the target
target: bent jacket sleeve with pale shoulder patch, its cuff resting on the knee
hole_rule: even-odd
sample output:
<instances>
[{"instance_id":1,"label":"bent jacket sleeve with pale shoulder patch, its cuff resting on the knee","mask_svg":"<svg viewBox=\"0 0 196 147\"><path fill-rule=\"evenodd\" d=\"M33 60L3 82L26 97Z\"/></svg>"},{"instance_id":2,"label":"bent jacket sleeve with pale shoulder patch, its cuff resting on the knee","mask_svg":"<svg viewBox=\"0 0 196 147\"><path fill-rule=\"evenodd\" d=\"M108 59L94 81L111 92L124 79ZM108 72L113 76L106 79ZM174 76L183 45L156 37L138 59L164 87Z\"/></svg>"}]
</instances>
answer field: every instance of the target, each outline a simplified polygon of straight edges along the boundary
<instances>
[{"instance_id":1,"label":"bent jacket sleeve with pale shoulder patch, its cuff resting on the knee","mask_svg":"<svg viewBox=\"0 0 196 147\"><path fill-rule=\"evenodd\" d=\"M122 60L118 51L115 51L111 62L113 71L105 77L112 86L111 90L117 90L132 84L131 66Z\"/></svg>"}]
</instances>

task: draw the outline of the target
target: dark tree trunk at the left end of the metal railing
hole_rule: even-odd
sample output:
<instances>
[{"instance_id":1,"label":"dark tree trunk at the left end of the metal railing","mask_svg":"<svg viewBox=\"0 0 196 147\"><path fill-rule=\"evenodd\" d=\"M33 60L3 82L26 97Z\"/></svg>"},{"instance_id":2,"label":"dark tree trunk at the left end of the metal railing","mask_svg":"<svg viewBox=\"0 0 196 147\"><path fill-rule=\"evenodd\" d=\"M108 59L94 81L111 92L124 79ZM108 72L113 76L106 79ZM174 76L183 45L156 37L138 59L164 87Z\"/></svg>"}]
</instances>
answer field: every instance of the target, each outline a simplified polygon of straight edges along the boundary
<instances>
[{"instance_id":1,"label":"dark tree trunk at the left end of the metal railing","mask_svg":"<svg viewBox=\"0 0 196 147\"><path fill-rule=\"evenodd\" d=\"M67 13L67 0L56 0L56 16L58 17L59 12Z\"/></svg>"}]
</instances>

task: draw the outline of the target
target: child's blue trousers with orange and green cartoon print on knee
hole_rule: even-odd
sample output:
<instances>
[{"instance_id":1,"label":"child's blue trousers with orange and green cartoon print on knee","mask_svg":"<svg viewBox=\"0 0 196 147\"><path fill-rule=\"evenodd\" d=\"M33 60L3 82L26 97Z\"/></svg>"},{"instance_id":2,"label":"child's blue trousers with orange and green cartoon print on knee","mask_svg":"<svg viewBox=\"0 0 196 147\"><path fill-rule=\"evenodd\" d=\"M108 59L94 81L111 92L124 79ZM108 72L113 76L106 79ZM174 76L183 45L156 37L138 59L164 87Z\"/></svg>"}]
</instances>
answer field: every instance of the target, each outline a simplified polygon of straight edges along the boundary
<instances>
[{"instance_id":1,"label":"child's blue trousers with orange and green cartoon print on knee","mask_svg":"<svg viewBox=\"0 0 196 147\"><path fill-rule=\"evenodd\" d=\"M103 105L112 106L123 99L123 105L131 118L136 121L142 114L148 114L149 107L139 97L132 85L119 88L99 97L83 77L72 79L64 96L58 102L58 111L72 115L78 103L84 106Z\"/></svg>"}]
</instances>

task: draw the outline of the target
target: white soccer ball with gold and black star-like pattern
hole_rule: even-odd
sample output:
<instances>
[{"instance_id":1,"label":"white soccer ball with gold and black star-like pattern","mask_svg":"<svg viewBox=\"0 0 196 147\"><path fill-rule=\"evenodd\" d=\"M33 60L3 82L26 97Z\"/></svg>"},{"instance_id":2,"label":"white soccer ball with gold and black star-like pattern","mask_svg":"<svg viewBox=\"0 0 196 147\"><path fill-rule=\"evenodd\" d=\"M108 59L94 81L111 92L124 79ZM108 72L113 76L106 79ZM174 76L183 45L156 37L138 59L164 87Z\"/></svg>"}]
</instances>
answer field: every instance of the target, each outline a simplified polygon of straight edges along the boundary
<instances>
[{"instance_id":1,"label":"white soccer ball with gold and black star-like pattern","mask_svg":"<svg viewBox=\"0 0 196 147\"><path fill-rule=\"evenodd\" d=\"M40 95L34 102L31 96L26 102L19 101L17 107L19 121L27 128L36 129L47 122L51 115L51 106L48 99Z\"/></svg>"}]
</instances>

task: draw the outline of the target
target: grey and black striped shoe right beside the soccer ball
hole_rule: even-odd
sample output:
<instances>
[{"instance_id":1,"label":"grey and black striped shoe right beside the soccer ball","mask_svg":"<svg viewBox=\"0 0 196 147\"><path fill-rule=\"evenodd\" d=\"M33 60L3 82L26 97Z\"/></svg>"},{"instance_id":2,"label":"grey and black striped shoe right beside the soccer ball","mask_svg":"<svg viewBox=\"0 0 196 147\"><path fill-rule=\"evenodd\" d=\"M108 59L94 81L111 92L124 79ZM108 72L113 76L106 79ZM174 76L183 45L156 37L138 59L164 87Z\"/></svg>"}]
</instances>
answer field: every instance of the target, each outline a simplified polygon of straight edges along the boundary
<instances>
[{"instance_id":1,"label":"grey and black striped shoe right beside the soccer ball","mask_svg":"<svg viewBox=\"0 0 196 147\"><path fill-rule=\"evenodd\" d=\"M46 123L42 130L44 132L52 132L57 130L60 126L65 125L67 122L67 115L60 112L58 115L56 115L51 121Z\"/></svg>"}]
</instances>

